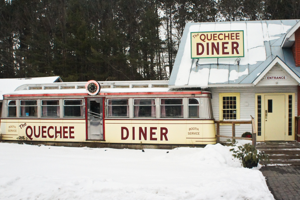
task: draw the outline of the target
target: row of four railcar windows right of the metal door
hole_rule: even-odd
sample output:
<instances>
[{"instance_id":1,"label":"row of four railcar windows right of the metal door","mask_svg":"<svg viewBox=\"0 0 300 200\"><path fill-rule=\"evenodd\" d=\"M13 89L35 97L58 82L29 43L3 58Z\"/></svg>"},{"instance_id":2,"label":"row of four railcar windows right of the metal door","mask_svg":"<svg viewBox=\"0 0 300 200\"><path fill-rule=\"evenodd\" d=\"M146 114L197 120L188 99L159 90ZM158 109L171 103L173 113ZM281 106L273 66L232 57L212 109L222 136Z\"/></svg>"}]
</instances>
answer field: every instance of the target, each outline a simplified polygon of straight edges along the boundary
<instances>
[{"instance_id":1,"label":"row of four railcar windows right of the metal door","mask_svg":"<svg viewBox=\"0 0 300 200\"><path fill-rule=\"evenodd\" d=\"M184 117L184 98L107 99L107 117L130 117L131 104L134 118ZM187 98L187 117L212 119L210 98Z\"/></svg>"}]
</instances>

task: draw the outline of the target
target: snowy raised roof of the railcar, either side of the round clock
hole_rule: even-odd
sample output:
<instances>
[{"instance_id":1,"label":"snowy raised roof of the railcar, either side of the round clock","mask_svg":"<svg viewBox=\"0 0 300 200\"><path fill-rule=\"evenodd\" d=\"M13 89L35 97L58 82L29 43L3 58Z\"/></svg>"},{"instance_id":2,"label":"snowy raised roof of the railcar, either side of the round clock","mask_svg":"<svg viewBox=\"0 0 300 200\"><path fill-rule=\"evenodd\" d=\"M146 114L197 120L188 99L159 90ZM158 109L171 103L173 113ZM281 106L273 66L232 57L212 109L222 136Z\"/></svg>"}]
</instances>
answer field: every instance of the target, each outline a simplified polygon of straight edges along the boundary
<instances>
[{"instance_id":1,"label":"snowy raised roof of the railcar, either side of the round clock","mask_svg":"<svg viewBox=\"0 0 300 200\"><path fill-rule=\"evenodd\" d=\"M85 85L87 82L62 82L62 83L41 83L24 84L15 91L4 96L28 96L28 95L88 95ZM151 81L99 81L101 86L100 95L119 94L166 94L173 89L168 88L166 80ZM177 92L180 93L181 91ZM184 93L181 92L182 94Z\"/></svg>"}]
</instances>

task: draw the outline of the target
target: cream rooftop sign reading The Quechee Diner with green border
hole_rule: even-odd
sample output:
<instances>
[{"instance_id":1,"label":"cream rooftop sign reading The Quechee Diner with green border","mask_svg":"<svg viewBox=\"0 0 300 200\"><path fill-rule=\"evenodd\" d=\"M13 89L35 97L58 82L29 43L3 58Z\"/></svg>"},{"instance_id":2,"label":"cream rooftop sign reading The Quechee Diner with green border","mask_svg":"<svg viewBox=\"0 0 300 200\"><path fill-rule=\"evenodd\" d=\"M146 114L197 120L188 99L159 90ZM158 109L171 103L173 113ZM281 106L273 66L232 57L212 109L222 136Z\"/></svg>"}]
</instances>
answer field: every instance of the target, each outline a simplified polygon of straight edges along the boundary
<instances>
[{"instance_id":1,"label":"cream rooftop sign reading The Quechee Diner with green border","mask_svg":"<svg viewBox=\"0 0 300 200\"><path fill-rule=\"evenodd\" d=\"M244 31L191 32L191 58L244 57Z\"/></svg>"}]
</instances>

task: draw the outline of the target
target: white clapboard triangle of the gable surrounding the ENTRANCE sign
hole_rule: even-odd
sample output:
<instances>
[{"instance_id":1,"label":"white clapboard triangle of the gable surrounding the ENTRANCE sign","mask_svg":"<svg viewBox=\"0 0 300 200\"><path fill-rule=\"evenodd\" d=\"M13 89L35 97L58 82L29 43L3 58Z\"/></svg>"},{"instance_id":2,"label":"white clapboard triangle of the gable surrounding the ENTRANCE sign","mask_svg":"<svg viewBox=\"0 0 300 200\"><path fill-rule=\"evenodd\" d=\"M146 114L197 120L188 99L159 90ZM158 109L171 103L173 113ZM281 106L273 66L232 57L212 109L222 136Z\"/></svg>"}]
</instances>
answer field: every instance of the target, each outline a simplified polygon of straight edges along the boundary
<instances>
[{"instance_id":1,"label":"white clapboard triangle of the gable surrounding the ENTRANCE sign","mask_svg":"<svg viewBox=\"0 0 300 200\"><path fill-rule=\"evenodd\" d=\"M267 80L266 76L287 76L286 80ZM260 80L257 86L276 86L276 85L297 85L297 83L289 76L288 73L283 71L279 66L274 65L265 77Z\"/></svg>"}]
</instances>

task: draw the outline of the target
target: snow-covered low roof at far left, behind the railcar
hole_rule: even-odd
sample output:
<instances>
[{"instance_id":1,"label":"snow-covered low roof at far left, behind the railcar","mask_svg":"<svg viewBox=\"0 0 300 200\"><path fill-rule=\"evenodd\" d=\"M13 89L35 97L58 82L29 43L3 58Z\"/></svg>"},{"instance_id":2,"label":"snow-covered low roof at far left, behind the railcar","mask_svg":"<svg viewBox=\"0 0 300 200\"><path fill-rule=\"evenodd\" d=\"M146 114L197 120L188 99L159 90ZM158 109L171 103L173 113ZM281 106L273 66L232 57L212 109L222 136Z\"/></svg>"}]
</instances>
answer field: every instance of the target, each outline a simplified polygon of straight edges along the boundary
<instances>
[{"instance_id":1,"label":"snow-covered low roof at far left, behind the railcar","mask_svg":"<svg viewBox=\"0 0 300 200\"><path fill-rule=\"evenodd\" d=\"M24 84L39 84L39 83L54 83L61 81L59 76L52 77L37 77L37 78L4 78L0 79L0 100L3 100L3 95L12 93L21 85Z\"/></svg>"}]
</instances>

